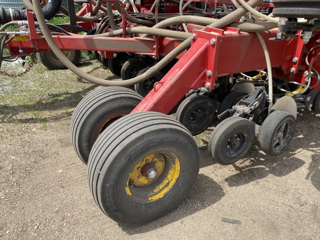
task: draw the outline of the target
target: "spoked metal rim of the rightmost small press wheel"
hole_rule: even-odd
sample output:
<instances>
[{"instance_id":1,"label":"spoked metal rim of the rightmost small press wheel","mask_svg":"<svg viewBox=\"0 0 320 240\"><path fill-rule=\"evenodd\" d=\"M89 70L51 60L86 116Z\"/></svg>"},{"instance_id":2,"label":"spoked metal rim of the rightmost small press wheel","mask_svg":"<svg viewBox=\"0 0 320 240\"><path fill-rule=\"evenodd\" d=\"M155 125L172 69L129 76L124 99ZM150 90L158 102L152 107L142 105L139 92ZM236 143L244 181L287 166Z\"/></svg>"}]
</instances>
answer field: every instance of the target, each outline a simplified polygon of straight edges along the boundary
<instances>
[{"instance_id":1,"label":"spoked metal rim of the rightmost small press wheel","mask_svg":"<svg viewBox=\"0 0 320 240\"><path fill-rule=\"evenodd\" d=\"M291 142L294 134L294 122L285 119L279 126L272 139L272 149L275 153L281 153Z\"/></svg>"}]
</instances>

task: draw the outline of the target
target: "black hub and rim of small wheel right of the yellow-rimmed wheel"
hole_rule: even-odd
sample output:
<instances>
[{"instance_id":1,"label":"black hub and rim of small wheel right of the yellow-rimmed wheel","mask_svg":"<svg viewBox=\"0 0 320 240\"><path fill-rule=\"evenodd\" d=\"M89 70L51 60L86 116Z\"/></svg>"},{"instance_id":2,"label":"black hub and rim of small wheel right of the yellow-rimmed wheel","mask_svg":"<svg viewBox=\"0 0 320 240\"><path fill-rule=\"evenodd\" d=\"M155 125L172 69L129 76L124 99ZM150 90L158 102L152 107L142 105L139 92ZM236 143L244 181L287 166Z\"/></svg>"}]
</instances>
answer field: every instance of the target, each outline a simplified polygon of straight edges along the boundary
<instances>
[{"instance_id":1,"label":"black hub and rim of small wheel right of the yellow-rimmed wheel","mask_svg":"<svg viewBox=\"0 0 320 240\"><path fill-rule=\"evenodd\" d=\"M226 154L229 157L241 154L247 144L247 134L245 132L236 132L229 136L227 140Z\"/></svg>"}]
</instances>

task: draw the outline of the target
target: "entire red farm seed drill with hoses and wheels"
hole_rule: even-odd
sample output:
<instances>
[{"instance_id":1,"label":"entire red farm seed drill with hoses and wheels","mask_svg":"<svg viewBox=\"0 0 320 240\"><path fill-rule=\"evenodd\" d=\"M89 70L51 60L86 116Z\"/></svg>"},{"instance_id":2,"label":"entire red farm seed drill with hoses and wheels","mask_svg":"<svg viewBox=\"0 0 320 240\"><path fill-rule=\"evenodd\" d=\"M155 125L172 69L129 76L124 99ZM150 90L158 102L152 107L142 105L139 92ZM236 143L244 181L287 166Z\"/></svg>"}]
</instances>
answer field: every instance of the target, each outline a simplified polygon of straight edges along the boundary
<instances>
[{"instance_id":1,"label":"entire red farm seed drill with hoses and wheels","mask_svg":"<svg viewBox=\"0 0 320 240\"><path fill-rule=\"evenodd\" d=\"M0 7L1 59L38 56L106 86L80 101L70 136L94 201L121 224L148 223L186 198L199 171L193 135L216 115L208 150L227 165L254 139L282 154L297 109L320 113L318 0L88 0L77 14L72 0L24 4ZM51 24L58 11L70 22ZM123 81L76 68L79 50Z\"/></svg>"}]
</instances>

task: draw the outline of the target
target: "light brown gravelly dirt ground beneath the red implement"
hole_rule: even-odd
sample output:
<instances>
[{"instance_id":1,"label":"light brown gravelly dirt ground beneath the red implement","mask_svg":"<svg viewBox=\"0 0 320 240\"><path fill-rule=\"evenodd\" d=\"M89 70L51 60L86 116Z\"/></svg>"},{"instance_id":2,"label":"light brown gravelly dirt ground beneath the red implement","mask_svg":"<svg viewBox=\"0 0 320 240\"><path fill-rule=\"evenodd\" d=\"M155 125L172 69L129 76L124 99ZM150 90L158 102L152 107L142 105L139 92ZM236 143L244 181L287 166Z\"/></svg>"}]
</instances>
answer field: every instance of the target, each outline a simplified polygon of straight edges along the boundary
<instances>
[{"instance_id":1,"label":"light brown gravelly dirt ground beneath the red implement","mask_svg":"<svg viewBox=\"0 0 320 240\"><path fill-rule=\"evenodd\" d=\"M83 66L93 74L96 68ZM40 69L42 79L55 81L48 74ZM283 155L252 148L229 166L214 163L207 150L215 120L196 136L201 166L187 199L159 220L128 227L105 216L90 194L69 124L76 103L96 86L69 75L82 90L61 89L56 94L64 97L53 101L35 99L31 110L0 102L0 239L320 239L319 114L299 111Z\"/></svg>"}]
</instances>

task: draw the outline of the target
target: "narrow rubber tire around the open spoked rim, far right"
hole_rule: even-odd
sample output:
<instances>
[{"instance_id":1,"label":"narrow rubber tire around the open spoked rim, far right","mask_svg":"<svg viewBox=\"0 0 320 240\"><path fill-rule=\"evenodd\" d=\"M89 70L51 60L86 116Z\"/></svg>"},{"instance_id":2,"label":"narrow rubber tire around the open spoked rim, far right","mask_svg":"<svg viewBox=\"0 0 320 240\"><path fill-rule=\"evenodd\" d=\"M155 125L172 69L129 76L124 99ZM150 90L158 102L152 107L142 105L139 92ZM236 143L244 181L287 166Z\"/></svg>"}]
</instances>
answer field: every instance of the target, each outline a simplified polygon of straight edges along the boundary
<instances>
[{"instance_id":1,"label":"narrow rubber tire around the open spoked rim, far right","mask_svg":"<svg viewBox=\"0 0 320 240\"><path fill-rule=\"evenodd\" d=\"M287 145L281 149L281 151L275 151L273 149L273 140L275 138L275 134L277 133L277 130L281 126L281 124L284 123L284 121L292 121L293 123L293 131L291 134L289 134L289 140L287 142ZM270 115L264 120L264 122L261 125L259 134L258 134L258 147L265 152L266 154L270 156L279 156L282 154L285 149L290 145L292 138L294 136L296 128L296 119L292 114L284 111L274 111L270 113Z\"/></svg>"}]
</instances>

